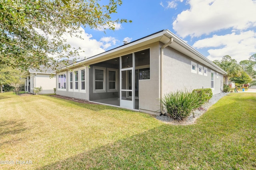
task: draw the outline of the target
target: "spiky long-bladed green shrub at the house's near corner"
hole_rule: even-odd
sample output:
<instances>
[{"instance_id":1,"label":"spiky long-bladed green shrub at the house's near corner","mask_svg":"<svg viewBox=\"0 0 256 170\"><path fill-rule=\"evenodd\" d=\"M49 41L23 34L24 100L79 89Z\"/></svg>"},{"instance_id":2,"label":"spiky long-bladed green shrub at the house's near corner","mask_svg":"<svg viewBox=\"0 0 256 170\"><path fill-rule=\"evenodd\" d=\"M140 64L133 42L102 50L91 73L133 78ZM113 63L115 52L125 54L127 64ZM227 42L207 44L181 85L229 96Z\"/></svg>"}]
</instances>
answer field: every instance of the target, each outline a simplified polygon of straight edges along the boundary
<instances>
[{"instance_id":1,"label":"spiky long-bladed green shrub at the house's near corner","mask_svg":"<svg viewBox=\"0 0 256 170\"><path fill-rule=\"evenodd\" d=\"M200 100L197 92L177 91L170 92L160 100L167 115L181 121L188 117L192 109L200 107L204 101Z\"/></svg>"}]
</instances>

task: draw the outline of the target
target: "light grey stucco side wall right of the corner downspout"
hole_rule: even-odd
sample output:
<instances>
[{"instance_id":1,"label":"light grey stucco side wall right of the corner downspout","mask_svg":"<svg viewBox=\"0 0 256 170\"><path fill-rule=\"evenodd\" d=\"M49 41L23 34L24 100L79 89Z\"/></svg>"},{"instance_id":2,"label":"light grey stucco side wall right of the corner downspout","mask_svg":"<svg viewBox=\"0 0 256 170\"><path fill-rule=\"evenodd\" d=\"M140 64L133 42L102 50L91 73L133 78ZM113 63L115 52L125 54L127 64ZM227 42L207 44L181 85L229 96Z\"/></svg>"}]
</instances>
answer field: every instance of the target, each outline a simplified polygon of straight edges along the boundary
<instances>
[{"instance_id":1,"label":"light grey stucco side wall right of the corner downspout","mask_svg":"<svg viewBox=\"0 0 256 170\"><path fill-rule=\"evenodd\" d=\"M191 71L191 61L196 63L196 73ZM199 65L202 66L203 71L204 68L207 69L207 76L204 72L203 74L199 74ZM171 47L166 47L163 56L162 92L166 94L168 92L184 89L211 88L211 71L214 71L214 88L212 89L212 93L218 94L221 92L222 74L204 66L202 63L198 63Z\"/></svg>"}]
</instances>

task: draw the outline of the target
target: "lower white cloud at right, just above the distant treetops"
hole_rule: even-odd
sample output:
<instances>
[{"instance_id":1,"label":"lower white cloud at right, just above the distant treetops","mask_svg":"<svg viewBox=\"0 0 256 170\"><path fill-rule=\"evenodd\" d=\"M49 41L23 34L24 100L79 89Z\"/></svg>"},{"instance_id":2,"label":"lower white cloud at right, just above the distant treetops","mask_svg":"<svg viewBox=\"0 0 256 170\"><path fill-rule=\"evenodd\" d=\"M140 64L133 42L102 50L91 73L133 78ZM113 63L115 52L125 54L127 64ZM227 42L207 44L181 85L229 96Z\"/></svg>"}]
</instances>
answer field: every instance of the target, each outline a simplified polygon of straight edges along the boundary
<instances>
[{"instance_id":1,"label":"lower white cloud at right, just above the distant treetops","mask_svg":"<svg viewBox=\"0 0 256 170\"><path fill-rule=\"evenodd\" d=\"M230 55L232 59L240 62L256 53L256 32L246 31L239 34L214 35L211 38L196 41L194 48L211 48L208 50L208 59L221 60L224 55Z\"/></svg>"}]
</instances>

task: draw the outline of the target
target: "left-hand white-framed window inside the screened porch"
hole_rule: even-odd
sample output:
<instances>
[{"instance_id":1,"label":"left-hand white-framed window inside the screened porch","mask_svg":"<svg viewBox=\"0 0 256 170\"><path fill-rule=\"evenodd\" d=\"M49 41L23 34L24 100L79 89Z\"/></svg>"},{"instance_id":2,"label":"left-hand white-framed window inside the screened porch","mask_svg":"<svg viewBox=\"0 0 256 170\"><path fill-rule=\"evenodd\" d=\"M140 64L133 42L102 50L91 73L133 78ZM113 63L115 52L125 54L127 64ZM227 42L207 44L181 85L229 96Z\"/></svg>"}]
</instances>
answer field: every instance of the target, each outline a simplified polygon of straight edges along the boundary
<instances>
[{"instance_id":1,"label":"left-hand white-framed window inside the screened porch","mask_svg":"<svg viewBox=\"0 0 256 170\"><path fill-rule=\"evenodd\" d=\"M93 67L93 91L94 93L106 92L105 70L103 67Z\"/></svg>"}]
</instances>

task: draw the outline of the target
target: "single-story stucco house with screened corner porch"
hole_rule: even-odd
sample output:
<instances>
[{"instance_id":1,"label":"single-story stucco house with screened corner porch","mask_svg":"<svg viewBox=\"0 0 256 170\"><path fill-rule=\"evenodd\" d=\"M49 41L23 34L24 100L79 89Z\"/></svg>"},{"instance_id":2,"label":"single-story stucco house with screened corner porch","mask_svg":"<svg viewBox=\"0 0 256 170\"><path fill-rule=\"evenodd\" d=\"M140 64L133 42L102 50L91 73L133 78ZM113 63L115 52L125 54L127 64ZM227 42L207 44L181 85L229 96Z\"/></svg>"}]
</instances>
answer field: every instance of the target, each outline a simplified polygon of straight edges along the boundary
<instances>
[{"instance_id":1,"label":"single-story stucco house with screened corner porch","mask_svg":"<svg viewBox=\"0 0 256 170\"><path fill-rule=\"evenodd\" d=\"M225 74L163 30L60 68L56 94L158 115L164 94L185 88L212 88L218 94Z\"/></svg>"}]
</instances>

